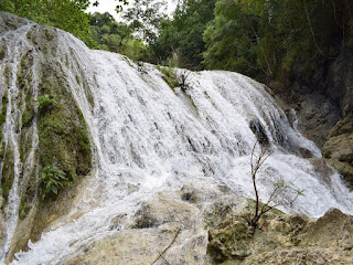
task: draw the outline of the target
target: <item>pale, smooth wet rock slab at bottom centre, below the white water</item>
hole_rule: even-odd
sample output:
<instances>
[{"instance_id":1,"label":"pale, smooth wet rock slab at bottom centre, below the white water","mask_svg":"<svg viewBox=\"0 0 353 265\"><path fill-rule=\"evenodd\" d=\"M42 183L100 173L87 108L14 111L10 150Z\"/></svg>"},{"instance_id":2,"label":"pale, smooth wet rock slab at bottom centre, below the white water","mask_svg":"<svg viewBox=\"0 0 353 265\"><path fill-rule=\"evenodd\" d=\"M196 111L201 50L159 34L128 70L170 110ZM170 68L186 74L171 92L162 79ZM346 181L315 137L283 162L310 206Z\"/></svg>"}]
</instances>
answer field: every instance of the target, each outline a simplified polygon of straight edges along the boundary
<instances>
[{"instance_id":1,"label":"pale, smooth wet rock slab at bottom centre, below the white water","mask_svg":"<svg viewBox=\"0 0 353 265\"><path fill-rule=\"evenodd\" d=\"M184 200L193 194L197 200ZM61 264L141 265L211 264L207 255L207 227L220 223L229 212L237 212L246 199L231 194L223 187L205 179L185 184L170 193L159 193L143 203L131 216L117 215L111 233L75 253ZM124 227L124 229L121 229ZM240 253L240 250L239 250Z\"/></svg>"}]
</instances>

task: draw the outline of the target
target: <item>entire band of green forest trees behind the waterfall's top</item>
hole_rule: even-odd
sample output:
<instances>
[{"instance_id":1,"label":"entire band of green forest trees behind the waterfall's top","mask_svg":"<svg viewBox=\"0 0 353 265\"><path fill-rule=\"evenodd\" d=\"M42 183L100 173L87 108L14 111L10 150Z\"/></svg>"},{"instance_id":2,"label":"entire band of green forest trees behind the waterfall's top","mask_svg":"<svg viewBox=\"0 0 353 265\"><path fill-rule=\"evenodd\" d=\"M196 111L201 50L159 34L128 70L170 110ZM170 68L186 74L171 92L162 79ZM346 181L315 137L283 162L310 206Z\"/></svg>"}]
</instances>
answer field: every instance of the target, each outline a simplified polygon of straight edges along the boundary
<instances>
[{"instance_id":1,"label":"entire band of green forest trees behind the waterfall's top","mask_svg":"<svg viewBox=\"0 0 353 265\"><path fill-rule=\"evenodd\" d=\"M126 22L85 13L87 0L4 0L0 10L61 28L89 47L136 61L190 70L228 70L275 88L300 68L314 68L353 45L350 0L183 0L172 17L165 2L117 1Z\"/></svg>"}]
</instances>

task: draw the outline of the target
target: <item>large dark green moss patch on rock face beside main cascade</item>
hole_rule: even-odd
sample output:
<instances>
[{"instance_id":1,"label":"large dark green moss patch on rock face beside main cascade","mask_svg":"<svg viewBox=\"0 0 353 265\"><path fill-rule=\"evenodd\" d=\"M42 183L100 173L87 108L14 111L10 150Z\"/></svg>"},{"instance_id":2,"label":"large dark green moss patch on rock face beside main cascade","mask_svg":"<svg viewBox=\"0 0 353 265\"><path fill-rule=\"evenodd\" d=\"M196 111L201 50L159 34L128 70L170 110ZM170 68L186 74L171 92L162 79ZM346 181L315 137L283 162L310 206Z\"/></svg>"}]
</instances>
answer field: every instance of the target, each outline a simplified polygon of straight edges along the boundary
<instances>
[{"instance_id":1,"label":"large dark green moss patch on rock face beside main cascade","mask_svg":"<svg viewBox=\"0 0 353 265\"><path fill-rule=\"evenodd\" d=\"M64 80L61 67L44 65L41 94L56 104L39 113L40 163L61 169L75 181L89 172L92 151L86 123Z\"/></svg>"}]
</instances>

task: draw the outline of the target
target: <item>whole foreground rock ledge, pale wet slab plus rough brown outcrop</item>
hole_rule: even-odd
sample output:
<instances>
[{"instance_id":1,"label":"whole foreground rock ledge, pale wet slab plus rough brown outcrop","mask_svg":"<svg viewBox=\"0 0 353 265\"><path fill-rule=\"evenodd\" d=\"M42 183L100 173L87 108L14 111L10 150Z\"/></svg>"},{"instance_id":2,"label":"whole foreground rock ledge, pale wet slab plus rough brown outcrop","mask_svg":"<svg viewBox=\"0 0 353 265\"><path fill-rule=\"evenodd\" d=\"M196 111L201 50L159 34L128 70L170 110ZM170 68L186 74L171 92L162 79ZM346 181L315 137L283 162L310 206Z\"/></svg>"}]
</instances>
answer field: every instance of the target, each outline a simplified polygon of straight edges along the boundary
<instances>
[{"instance_id":1,"label":"whole foreground rock ledge, pale wet slab plus rough brown outcrop","mask_svg":"<svg viewBox=\"0 0 353 265\"><path fill-rule=\"evenodd\" d=\"M169 245L163 257L173 265L353 264L353 216L331 209L310 220L272 210L253 236L246 216L254 201L207 186L159 193L135 215L115 216L110 234L61 264L152 264Z\"/></svg>"}]
</instances>

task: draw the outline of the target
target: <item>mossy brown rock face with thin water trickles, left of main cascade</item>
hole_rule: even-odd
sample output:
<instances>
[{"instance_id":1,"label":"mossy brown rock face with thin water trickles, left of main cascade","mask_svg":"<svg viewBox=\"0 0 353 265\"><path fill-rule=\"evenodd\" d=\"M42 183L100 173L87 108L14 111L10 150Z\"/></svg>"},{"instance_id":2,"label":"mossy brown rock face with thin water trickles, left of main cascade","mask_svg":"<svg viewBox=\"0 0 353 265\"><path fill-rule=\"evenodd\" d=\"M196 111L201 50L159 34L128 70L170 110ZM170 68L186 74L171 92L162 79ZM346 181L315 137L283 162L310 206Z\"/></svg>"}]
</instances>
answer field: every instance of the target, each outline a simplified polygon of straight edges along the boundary
<instances>
[{"instance_id":1,"label":"mossy brown rock face with thin water trickles, left of main cascade","mask_svg":"<svg viewBox=\"0 0 353 265\"><path fill-rule=\"evenodd\" d=\"M43 169L50 166L64 171L75 186L89 173L93 156L86 121L71 91L71 72L63 68L65 62L58 54L57 30L0 12L0 153L6 161L0 215L19 218L7 253L10 261L60 215L53 205L57 194L44 194ZM39 102L45 96L53 104L42 108ZM20 187L14 187L17 182ZM56 191L65 193L63 187L68 182ZM20 191L19 209L9 203L14 201L10 200L14 189ZM66 205L62 212L68 211L69 203Z\"/></svg>"}]
</instances>

